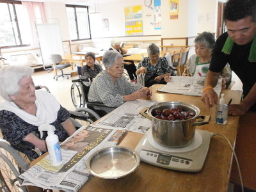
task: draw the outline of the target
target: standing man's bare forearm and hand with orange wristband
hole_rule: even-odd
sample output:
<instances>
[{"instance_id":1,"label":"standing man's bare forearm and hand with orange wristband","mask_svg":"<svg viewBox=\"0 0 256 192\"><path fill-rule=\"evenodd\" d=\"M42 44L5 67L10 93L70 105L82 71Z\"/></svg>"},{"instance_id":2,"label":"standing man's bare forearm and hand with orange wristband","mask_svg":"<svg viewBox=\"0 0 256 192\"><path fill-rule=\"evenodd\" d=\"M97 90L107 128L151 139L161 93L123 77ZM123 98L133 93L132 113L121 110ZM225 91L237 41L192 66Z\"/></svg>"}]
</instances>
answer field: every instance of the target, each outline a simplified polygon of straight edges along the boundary
<instances>
[{"instance_id":1,"label":"standing man's bare forearm and hand with orange wristband","mask_svg":"<svg viewBox=\"0 0 256 192\"><path fill-rule=\"evenodd\" d=\"M218 95L213 90L213 88L218 83L218 79L220 77L220 73L212 72L208 70L207 75L204 81L204 92L201 97L202 101L205 103L207 108L212 108L214 104L218 104Z\"/></svg>"}]
</instances>

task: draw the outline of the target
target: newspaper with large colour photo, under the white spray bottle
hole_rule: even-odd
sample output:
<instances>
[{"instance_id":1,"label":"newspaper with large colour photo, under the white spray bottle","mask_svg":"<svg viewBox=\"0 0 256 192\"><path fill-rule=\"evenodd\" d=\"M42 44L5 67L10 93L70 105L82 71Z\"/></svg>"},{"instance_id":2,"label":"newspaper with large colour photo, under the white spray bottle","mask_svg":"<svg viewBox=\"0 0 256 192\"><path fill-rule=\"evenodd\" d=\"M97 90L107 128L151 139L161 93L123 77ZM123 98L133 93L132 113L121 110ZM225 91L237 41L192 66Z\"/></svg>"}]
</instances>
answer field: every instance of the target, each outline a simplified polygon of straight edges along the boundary
<instances>
[{"instance_id":1,"label":"newspaper with large colour photo, under the white spray bottle","mask_svg":"<svg viewBox=\"0 0 256 192\"><path fill-rule=\"evenodd\" d=\"M88 157L100 148L116 145L124 134L124 129L83 126L61 143L63 163L60 166L51 166L46 156L19 176L24 179L22 185L78 191L90 177L86 170Z\"/></svg>"}]
</instances>

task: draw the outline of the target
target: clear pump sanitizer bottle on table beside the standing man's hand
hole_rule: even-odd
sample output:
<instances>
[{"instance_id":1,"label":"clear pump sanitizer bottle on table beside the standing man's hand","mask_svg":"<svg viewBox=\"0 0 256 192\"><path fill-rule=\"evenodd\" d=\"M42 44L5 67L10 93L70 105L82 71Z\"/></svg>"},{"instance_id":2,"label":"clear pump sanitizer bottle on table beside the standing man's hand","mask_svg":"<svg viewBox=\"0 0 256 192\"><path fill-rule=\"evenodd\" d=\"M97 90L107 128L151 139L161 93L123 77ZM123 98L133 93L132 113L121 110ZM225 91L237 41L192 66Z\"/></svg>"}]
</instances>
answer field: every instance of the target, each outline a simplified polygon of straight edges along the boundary
<instances>
[{"instance_id":1,"label":"clear pump sanitizer bottle on table beside the standing man's hand","mask_svg":"<svg viewBox=\"0 0 256 192\"><path fill-rule=\"evenodd\" d=\"M225 104L224 93L221 94L220 104L216 106L216 118L217 124L227 124L228 120L228 105Z\"/></svg>"}]
</instances>

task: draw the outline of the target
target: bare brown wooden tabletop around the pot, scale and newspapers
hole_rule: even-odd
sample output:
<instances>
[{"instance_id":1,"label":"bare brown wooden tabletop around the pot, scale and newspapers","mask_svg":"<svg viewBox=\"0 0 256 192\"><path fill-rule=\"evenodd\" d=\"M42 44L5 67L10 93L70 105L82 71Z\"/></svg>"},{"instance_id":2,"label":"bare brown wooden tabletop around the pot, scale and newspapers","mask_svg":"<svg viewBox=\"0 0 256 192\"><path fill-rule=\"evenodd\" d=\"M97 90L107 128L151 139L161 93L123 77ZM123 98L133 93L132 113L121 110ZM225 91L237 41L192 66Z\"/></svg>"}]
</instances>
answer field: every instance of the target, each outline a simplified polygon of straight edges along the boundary
<instances>
[{"instance_id":1,"label":"bare brown wooden tabletop around the pot, scale and newspapers","mask_svg":"<svg viewBox=\"0 0 256 192\"><path fill-rule=\"evenodd\" d=\"M234 145L239 122L238 116L228 116L226 125L218 125L214 122L215 108L206 109L200 97L158 92L157 88L160 86L163 84L154 84L151 87L152 100L194 104L200 108L201 115L211 115L212 117L209 124L198 126L196 129L223 134ZM224 90L223 92L227 102L231 98L233 104L240 102L241 92L233 90ZM118 145L134 149L142 136L143 134L128 131ZM104 180L92 176L79 191L227 191L231 165L232 150L227 141L221 136L214 136L211 138L209 152L200 172L168 170L141 161L135 172L120 179Z\"/></svg>"}]
</instances>

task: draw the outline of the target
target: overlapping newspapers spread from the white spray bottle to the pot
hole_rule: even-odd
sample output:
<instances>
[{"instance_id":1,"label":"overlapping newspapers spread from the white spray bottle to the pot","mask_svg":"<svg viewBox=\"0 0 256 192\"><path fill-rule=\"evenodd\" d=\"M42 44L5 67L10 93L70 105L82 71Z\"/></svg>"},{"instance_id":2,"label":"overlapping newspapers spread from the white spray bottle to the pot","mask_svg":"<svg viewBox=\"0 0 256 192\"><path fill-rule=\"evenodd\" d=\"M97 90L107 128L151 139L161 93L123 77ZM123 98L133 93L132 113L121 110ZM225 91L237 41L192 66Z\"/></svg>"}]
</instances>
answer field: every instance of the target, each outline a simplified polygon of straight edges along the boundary
<instances>
[{"instance_id":1,"label":"overlapping newspapers spread from the white spray bottle to the pot","mask_svg":"<svg viewBox=\"0 0 256 192\"><path fill-rule=\"evenodd\" d=\"M140 115L140 111L154 104L156 101L140 99L125 102L96 124L81 127L61 143L63 163L60 166L51 166L49 156L46 156L19 176L24 179L22 185L78 191L90 177L86 170L88 157L100 148L116 145L126 131L145 134L151 127L151 121ZM85 139L78 142L80 136Z\"/></svg>"}]
</instances>

